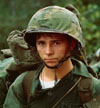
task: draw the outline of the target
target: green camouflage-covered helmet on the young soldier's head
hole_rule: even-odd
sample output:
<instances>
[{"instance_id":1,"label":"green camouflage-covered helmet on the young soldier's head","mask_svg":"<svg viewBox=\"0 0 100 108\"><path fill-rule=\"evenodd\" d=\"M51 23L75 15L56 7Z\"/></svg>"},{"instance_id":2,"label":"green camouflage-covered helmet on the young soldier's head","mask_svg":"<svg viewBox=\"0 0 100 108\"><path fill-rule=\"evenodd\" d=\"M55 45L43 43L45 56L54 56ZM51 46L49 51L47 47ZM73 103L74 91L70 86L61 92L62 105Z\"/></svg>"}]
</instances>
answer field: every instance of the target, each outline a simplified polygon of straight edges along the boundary
<instances>
[{"instance_id":1,"label":"green camouflage-covered helmet on the young soldier's head","mask_svg":"<svg viewBox=\"0 0 100 108\"><path fill-rule=\"evenodd\" d=\"M48 6L33 15L25 33L25 41L32 45L36 33L66 34L77 40L81 47L84 47L77 16L70 10L59 6Z\"/></svg>"}]
</instances>

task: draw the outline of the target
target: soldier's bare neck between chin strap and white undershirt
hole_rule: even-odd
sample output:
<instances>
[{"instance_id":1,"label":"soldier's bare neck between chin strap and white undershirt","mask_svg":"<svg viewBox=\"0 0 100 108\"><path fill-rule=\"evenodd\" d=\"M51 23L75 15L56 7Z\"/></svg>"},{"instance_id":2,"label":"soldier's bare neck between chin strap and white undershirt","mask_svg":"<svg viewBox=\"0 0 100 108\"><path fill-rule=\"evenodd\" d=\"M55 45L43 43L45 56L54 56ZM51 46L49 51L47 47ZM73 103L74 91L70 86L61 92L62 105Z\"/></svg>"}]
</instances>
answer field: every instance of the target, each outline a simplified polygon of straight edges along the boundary
<instances>
[{"instance_id":1,"label":"soldier's bare neck between chin strap and white undershirt","mask_svg":"<svg viewBox=\"0 0 100 108\"><path fill-rule=\"evenodd\" d=\"M70 58L67 61L65 61L58 69L50 69L45 66L41 73L42 80L44 81L55 80L55 72L56 72L57 79L62 79L72 69L73 69L73 64Z\"/></svg>"}]
</instances>

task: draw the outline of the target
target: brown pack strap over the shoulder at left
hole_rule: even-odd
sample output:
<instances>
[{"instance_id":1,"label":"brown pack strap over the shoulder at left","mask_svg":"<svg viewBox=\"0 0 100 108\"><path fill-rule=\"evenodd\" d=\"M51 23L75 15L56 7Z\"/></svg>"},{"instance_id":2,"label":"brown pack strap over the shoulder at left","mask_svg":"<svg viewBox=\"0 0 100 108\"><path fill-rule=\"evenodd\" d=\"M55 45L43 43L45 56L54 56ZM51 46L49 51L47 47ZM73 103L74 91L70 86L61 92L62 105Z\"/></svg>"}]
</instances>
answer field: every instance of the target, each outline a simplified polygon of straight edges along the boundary
<instances>
[{"instance_id":1,"label":"brown pack strap over the shoulder at left","mask_svg":"<svg viewBox=\"0 0 100 108\"><path fill-rule=\"evenodd\" d=\"M33 82L33 76L34 76L35 71L29 71L23 81L23 88L24 92L27 98L27 103L30 100L30 93L31 93L31 88L32 88L32 82Z\"/></svg>"}]
</instances>

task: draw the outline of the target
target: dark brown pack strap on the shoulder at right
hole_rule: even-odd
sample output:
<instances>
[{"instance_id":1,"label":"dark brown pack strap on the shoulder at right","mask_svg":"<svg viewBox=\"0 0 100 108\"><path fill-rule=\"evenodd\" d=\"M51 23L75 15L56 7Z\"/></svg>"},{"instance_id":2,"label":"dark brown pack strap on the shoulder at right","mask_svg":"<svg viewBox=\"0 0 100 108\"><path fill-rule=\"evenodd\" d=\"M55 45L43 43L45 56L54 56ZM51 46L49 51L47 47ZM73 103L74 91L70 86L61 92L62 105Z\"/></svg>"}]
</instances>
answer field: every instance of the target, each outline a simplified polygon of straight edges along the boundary
<instances>
[{"instance_id":1,"label":"dark brown pack strap on the shoulder at right","mask_svg":"<svg viewBox=\"0 0 100 108\"><path fill-rule=\"evenodd\" d=\"M82 77L78 84L78 92L82 103L86 103L92 99L93 80L91 78Z\"/></svg>"}]
</instances>

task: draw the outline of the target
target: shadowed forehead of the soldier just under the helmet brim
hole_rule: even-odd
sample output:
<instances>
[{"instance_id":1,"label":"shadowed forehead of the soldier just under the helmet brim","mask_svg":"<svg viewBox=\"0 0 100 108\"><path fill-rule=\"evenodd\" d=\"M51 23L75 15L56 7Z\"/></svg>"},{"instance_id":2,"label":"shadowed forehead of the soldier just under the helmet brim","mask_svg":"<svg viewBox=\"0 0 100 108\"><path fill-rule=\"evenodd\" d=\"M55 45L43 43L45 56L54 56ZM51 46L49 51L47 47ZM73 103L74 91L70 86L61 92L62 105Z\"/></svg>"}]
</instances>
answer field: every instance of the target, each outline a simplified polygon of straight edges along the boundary
<instances>
[{"instance_id":1,"label":"shadowed forehead of the soldier just under the helmet brim","mask_svg":"<svg viewBox=\"0 0 100 108\"><path fill-rule=\"evenodd\" d=\"M47 34L38 34L36 36L36 40L39 40L39 39L57 39L57 40L67 40L67 36L66 35L63 35L63 34L50 34L50 33L47 33Z\"/></svg>"}]
</instances>

